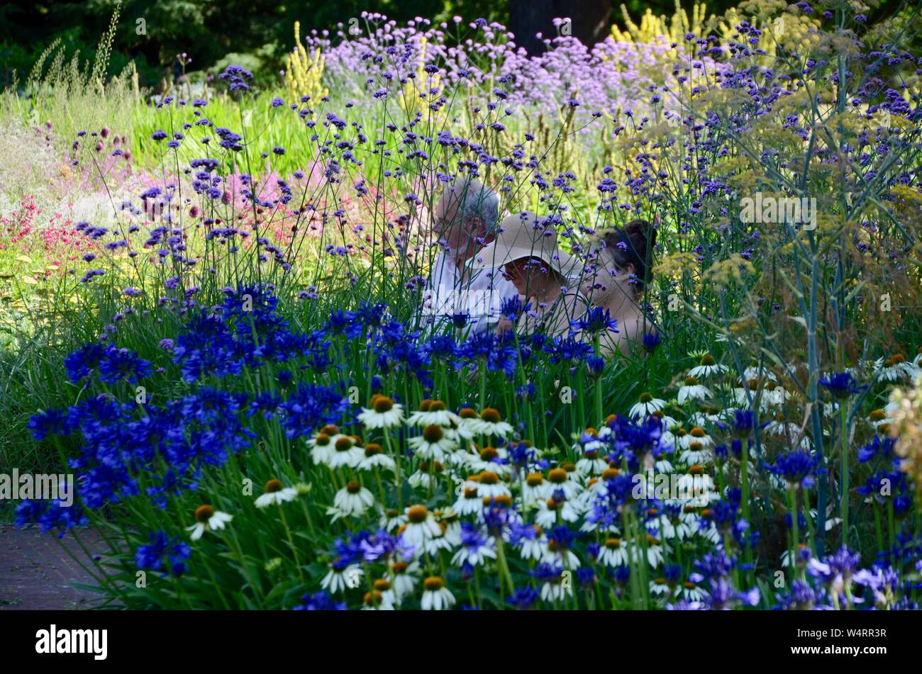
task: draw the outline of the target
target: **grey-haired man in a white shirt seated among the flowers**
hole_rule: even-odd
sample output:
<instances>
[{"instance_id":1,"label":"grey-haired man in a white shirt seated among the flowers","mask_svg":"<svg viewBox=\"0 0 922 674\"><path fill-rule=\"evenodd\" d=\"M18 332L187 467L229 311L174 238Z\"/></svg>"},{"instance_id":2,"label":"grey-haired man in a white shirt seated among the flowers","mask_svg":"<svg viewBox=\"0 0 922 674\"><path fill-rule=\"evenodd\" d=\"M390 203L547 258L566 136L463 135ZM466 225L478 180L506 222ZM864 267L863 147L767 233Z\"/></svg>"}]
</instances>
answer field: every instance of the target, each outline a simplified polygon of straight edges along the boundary
<instances>
[{"instance_id":1,"label":"grey-haired man in a white shirt seated among the flowers","mask_svg":"<svg viewBox=\"0 0 922 674\"><path fill-rule=\"evenodd\" d=\"M423 319L433 327L454 324L462 334L503 331L503 300L518 296L502 273L467 265L496 237L500 199L479 180L457 179L445 186L432 211L442 251L432 264L423 295Z\"/></svg>"}]
</instances>

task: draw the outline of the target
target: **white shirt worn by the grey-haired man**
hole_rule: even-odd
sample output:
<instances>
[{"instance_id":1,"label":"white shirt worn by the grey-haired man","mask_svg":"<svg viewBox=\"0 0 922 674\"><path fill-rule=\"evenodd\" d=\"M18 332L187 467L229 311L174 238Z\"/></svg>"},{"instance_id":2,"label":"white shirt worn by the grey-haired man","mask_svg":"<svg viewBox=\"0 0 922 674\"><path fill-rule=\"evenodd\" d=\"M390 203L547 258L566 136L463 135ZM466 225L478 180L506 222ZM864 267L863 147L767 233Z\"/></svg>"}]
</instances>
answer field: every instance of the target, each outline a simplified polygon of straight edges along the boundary
<instances>
[{"instance_id":1,"label":"white shirt worn by the grey-haired man","mask_svg":"<svg viewBox=\"0 0 922 674\"><path fill-rule=\"evenodd\" d=\"M519 296L498 270L467 268L465 272L461 281L457 258L448 250L439 253L423 291L424 323L450 322L455 314L467 314L467 329L489 330L502 319L502 300Z\"/></svg>"}]
</instances>

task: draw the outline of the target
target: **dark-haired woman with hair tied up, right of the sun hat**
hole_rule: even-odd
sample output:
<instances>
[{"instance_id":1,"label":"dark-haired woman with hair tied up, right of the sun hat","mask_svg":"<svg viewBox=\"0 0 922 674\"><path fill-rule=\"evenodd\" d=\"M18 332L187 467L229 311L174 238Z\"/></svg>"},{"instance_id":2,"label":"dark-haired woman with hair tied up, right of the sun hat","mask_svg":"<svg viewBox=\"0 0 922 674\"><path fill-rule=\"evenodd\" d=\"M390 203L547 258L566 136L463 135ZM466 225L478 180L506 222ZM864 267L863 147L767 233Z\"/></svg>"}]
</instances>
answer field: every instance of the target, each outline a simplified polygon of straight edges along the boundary
<instances>
[{"instance_id":1,"label":"dark-haired woman with hair tied up, right of the sun hat","mask_svg":"<svg viewBox=\"0 0 922 674\"><path fill-rule=\"evenodd\" d=\"M655 245L656 227L638 219L602 231L592 249L585 265L583 294L618 321L618 332L609 332L609 339L601 344L603 355L627 353L652 327L639 298L650 279Z\"/></svg>"}]
</instances>

